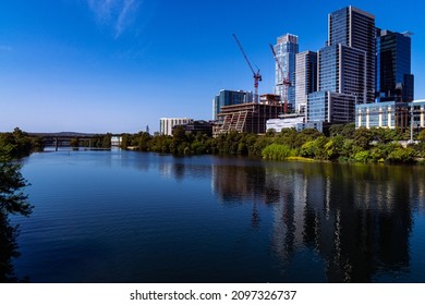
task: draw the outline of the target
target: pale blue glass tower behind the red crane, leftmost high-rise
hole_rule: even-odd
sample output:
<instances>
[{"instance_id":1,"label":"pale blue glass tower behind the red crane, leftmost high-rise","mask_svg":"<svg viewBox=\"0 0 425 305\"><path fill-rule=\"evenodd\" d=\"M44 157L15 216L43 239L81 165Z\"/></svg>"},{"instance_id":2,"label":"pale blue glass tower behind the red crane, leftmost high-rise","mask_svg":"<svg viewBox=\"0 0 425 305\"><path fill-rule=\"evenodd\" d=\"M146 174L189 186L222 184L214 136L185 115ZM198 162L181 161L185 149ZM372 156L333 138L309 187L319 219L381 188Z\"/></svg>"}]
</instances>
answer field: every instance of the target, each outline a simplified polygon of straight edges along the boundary
<instances>
[{"instance_id":1,"label":"pale blue glass tower behind the red crane, leftmost high-rise","mask_svg":"<svg viewBox=\"0 0 425 305\"><path fill-rule=\"evenodd\" d=\"M287 34L278 37L275 46L276 58L283 70L279 69L276 63L275 68L275 94L283 97L284 93L288 103L292 109L295 108L295 56L299 52L299 37L296 35ZM286 91L283 81L288 78L291 86Z\"/></svg>"}]
</instances>

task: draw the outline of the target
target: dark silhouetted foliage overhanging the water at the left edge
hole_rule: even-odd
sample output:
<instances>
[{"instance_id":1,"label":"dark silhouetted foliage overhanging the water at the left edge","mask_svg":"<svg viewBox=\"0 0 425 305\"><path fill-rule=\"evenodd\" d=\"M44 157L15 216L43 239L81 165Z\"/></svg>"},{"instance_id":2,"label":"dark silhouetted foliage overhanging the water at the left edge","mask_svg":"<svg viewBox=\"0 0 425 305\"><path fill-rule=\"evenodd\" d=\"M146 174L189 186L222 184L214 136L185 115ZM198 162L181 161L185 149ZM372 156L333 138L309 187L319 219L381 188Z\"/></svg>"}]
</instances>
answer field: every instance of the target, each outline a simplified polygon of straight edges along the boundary
<instances>
[{"instance_id":1,"label":"dark silhouetted foliage overhanging the water at the left edge","mask_svg":"<svg viewBox=\"0 0 425 305\"><path fill-rule=\"evenodd\" d=\"M0 282L27 281L19 279L13 269L12 260L20 256L16 236L19 227L10 223L10 215L29 216L33 207L27 196L21 192L26 185L20 167L0 160Z\"/></svg>"}]
</instances>

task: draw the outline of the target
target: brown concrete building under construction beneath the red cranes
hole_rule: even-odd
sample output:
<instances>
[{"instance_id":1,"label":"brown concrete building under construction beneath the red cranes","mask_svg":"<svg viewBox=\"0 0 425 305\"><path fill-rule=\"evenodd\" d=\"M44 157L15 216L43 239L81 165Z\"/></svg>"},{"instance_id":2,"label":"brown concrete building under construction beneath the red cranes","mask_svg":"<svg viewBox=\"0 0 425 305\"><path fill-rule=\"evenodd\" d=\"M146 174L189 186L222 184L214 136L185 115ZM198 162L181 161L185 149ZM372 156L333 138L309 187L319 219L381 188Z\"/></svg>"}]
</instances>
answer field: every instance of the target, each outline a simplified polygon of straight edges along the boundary
<instances>
[{"instance_id":1,"label":"brown concrete building under construction beneath the red cranes","mask_svg":"<svg viewBox=\"0 0 425 305\"><path fill-rule=\"evenodd\" d=\"M262 96L263 98L263 96ZM230 131L264 134L266 121L277 119L282 113L282 106L277 102L247 102L221 107L212 135Z\"/></svg>"}]
</instances>

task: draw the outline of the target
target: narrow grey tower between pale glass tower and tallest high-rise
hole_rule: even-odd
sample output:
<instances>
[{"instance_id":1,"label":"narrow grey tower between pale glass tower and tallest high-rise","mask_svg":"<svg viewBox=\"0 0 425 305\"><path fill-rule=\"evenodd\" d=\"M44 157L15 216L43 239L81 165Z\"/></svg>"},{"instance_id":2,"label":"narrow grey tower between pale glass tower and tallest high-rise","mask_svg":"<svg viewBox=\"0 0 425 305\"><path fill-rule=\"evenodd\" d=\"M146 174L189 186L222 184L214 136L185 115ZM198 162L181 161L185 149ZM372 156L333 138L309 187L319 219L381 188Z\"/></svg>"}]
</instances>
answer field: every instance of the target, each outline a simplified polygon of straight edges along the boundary
<instances>
[{"instance_id":1,"label":"narrow grey tower between pale glass tower and tallest high-rise","mask_svg":"<svg viewBox=\"0 0 425 305\"><path fill-rule=\"evenodd\" d=\"M303 113L307 107L308 94L317 91L317 53L298 53L295 63L295 111Z\"/></svg>"}]
</instances>

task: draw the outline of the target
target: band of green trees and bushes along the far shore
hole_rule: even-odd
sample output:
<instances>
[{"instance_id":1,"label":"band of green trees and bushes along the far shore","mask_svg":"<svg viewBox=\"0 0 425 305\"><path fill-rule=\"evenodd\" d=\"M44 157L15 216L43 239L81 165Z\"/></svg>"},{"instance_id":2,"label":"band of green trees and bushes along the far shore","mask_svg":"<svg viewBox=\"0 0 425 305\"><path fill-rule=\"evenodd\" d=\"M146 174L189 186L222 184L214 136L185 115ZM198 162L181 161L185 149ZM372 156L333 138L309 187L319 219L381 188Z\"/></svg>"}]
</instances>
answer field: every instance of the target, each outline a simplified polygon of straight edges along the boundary
<instances>
[{"instance_id":1,"label":"band of green trees and bushes along the far shore","mask_svg":"<svg viewBox=\"0 0 425 305\"><path fill-rule=\"evenodd\" d=\"M354 124L332 125L329 134L307 129L272 130L264 135L230 132L218 137L186 133L178 126L173 135L150 135L146 132L122 134L121 148L174 156L219 155L247 156L267 160L330 161L361 163L425 164L425 130L409 143L410 133L400 129L355 129ZM94 147L110 148L111 134L97 135ZM81 142L80 142L81 144ZM71 141L78 146L78 139ZM19 159L33 151L42 151L42 139L15 129L0 133L0 156Z\"/></svg>"}]
</instances>

